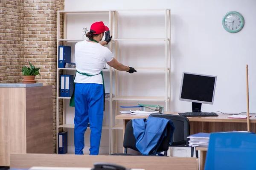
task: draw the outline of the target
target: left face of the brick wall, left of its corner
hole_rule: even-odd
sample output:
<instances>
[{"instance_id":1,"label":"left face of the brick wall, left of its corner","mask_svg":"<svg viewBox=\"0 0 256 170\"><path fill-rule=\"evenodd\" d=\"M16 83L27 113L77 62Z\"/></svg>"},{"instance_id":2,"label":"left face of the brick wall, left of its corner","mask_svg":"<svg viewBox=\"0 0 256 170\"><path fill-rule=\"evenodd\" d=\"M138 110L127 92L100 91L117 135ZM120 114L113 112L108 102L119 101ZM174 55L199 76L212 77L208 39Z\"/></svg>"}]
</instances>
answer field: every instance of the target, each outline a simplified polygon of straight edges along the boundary
<instances>
[{"instance_id":1,"label":"left face of the brick wall, left of its corner","mask_svg":"<svg viewBox=\"0 0 256 170\"><path fill-rule=\"evenodd\" d=\"M0 0L0 82L20 82L23 0Z\"/></svg>"}]
</instances>

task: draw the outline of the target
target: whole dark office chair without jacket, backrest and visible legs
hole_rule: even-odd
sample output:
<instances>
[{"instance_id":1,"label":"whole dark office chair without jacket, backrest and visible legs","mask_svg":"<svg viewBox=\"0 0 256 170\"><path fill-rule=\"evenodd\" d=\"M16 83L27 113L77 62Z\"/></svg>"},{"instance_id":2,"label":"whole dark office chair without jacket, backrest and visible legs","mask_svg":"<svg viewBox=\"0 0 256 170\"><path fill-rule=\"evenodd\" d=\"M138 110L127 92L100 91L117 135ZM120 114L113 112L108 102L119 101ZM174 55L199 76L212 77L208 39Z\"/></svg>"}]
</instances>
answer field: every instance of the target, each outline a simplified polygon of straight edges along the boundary
<instances>
[{"instance_id":1,"label":"whole dark office chair without jacket, backrest and visible legs","mask_svg":"<svg viewBox=\"0 0 256 170\"><path fill-rule=\"evenodd\" d=\"M190 135L189 119L184 116L172 114L153 113L149 116L160 117L172 120L175 130L170 147L189 147L188 136ZM194 147L191 147L191 157L194 157ZM198 154L197 154L198 158Z\"/></svg>"}]
</instances>

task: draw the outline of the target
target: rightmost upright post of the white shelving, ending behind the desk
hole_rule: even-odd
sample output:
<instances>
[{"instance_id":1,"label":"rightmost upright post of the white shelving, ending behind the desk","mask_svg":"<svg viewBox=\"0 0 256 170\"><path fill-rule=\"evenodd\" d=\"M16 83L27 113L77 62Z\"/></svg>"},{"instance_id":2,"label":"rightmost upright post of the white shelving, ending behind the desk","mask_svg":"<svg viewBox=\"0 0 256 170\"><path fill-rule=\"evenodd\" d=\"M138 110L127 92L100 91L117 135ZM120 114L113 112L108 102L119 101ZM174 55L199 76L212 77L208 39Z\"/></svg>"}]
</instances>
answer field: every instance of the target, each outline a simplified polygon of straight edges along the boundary
<instances>
[{"instance_id":1,"label":"rightmost upright post of the white shelving, ending behind the desk","mask_svg":"<svg viewBox=\"0 0 256 170\"><path fill-rule=\"evenodd\" d=\"M167 48L168 48L168 22L167 22L167 19L168 19L168 17L167 17L167 11L168 11L168 9L166 9L165 10L165 28L166 28L166 37L165 37L165 61L166 61L166 65L165 65L165 67L166 67L166 69L165 69L165 82L166 82L166 84L165 84L165 86L166 86L166 92L165 92L165 100L166 100L166 111L168 111L168 85L167 85L167 73L168 73L168 60L167 60L167 55L168 55L168 51L167 51Z\"/></svg>"}]
</instances>

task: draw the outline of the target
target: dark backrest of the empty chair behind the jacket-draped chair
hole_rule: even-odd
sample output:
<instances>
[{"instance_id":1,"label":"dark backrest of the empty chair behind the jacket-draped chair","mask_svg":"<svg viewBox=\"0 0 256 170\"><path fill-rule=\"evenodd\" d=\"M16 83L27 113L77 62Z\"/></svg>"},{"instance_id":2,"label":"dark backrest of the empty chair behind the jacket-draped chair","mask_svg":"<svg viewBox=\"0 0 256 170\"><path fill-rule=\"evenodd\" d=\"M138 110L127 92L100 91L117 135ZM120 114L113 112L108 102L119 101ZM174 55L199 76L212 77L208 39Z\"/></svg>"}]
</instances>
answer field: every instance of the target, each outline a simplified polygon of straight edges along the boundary
<instances>
[{"instance_id":1,"label":"dark backrest of the empty chair behind the jacket-draped chair","mask_svg":"<svg viewBox=\"0 0 256 170\"><path fill-rule=\"evenodd\" d=\"M172 120L175 130L172 137L172 142L187 141L190 134L189 119L184 116L172 114L153 113L149 116L160 117Z\"/></svg>"}]
</instances>

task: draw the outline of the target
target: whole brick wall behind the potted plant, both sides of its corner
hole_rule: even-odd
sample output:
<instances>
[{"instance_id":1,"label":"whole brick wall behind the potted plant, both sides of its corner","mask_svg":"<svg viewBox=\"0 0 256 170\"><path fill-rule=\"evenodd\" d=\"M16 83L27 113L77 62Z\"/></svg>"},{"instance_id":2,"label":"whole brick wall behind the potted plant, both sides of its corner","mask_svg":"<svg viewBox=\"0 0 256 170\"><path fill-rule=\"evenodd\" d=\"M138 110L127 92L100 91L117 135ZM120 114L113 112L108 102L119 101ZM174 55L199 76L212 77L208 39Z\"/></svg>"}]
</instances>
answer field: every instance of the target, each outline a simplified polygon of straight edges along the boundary
<instances>
[{"instance_id":1,"label":"whole brick wall behind the potted plant, both sides of its corner","mask_svg":"<svg viewBox=\"0 0 256 170\"><path fill-rule=\"evenodd\" d=\"M21 82L21 68L28 62L41 68L38 82L53 85L55 153L57 11L64 10L64 0L0 0L0 9L0 83Z\"/></svg>"}]
</instances>

